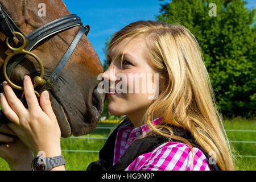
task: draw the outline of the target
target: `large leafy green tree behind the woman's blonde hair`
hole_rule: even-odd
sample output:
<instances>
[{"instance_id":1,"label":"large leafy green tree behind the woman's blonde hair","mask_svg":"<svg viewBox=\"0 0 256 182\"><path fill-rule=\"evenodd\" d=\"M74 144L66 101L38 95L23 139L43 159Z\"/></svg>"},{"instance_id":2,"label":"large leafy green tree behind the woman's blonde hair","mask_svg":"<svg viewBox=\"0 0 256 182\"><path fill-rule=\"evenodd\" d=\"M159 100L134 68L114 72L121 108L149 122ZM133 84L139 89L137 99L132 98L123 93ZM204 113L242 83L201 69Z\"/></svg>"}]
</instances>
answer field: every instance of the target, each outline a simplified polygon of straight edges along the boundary
<instances>
[{"instance_id":1,"label":"large leafy green tree behind the woman's blonde hair","mask_svg":"<svg viewBox=\"0 0 256 182\"><path fill-rule=\"evenodd\" d=\"M216 16L209 16L215 3ZM197 38L225 117L255 117L255 10L242 0L172 0L162 5L158 21L179 23Z\"/></svg>"}]
</instances>

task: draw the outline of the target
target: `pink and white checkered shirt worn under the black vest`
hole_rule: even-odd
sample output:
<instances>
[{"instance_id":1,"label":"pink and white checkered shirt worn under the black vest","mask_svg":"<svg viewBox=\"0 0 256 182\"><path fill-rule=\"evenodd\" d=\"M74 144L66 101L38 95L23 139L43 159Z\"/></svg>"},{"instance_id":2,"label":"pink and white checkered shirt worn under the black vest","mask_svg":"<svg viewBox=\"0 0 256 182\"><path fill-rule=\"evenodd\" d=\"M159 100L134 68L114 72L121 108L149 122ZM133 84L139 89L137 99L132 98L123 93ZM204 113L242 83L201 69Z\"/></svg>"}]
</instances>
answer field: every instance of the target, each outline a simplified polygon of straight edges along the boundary
<instances>
[{"instance_id":1,"label":"pink and white checkered shirt worn under the black vest","mask_svg":"<svg viewBox=\"0 0 256 182\"><path fill-rule=\"evenodd\" d=\"M162 118L155 119L153 123L160 122ZM128 123L118 129L115 140L114 161L121 158L130 144L139 136L149 131L147 125L134 128L133 123ZM207 158L199 148L193 147L193 170L210 171ZM163 143L155 150L142 154L125 169L126 171L171 171L171 170L190 170L192 154L187 144L179 142Z\"/></svg>"}]
</instances>

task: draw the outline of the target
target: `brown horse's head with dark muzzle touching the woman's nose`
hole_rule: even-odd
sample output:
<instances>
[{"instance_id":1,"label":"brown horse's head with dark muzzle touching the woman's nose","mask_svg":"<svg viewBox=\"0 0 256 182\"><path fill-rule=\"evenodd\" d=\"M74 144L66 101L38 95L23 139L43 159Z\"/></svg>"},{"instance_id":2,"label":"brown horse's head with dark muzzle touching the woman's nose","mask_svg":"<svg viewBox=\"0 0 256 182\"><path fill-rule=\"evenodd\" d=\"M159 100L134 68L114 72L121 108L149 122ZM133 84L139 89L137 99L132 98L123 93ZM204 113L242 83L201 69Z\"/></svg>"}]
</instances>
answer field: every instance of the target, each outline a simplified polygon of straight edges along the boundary
<instances>
[{"instance_id":1,"label":"brown horse's head with dark muzzle touching the woman's nose","mask_svg":"<svg viewBox=\"0 0 256 182\"><path fill-rule=\"evenodd\" d=\"M0 0L0 5L10 16L24 35L36 30L43 24L57 18L71 15L63 1L44 1L45 15L40 15L41 0ZM89 28L86 26L85 28ZM51 77L65 51L79 34L78 26L49 35L36 44L30 51L42 60L43 79ZM3 65L11 50L6 46L6 35L0 30L0 81L3 82ZM18 36L9 40L11 46L19 43ZM10 60L11 62L12 60ZM51 89L48 90L53 111L59 122L61 137L86 135L96 129L103 110L105 94L97 91L101 80L97 76L104 71L97 53L94 51L86 35L69 57ZM40 75L42 68L35 57L26 55L10 73L10 80L16 85L23 85L24 75L31 78ZM14 90L17 97L22 97L22 90ZM47 131L46 131L47 132Z\"/></svg>"}]
</instances>

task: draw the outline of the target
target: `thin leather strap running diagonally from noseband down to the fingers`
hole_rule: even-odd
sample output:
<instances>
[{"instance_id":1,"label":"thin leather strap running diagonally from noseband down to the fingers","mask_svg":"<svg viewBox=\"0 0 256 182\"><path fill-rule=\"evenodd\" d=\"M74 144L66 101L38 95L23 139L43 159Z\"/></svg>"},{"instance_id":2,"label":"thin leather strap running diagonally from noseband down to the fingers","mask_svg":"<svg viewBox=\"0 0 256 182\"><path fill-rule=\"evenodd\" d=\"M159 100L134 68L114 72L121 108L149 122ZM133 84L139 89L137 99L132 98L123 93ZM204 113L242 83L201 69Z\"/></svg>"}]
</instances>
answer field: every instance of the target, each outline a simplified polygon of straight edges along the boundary
<instances>
[{"instance_id":1,"label":"thin leather strap running diagonally from noseband down to the fingers","mask_svg":"<svg viewBox=\"0 0 256 182\"><path fill-rule=\"evenodd\" d=\"M87 32L86 27L80 27L80 30L77 32L75 38L73 39L71 45L68 47L67 51L64 53L63 57L61 58L59 64L52 72L51 76L46 81L46 84L42 86L39 90L39 94L41 94L44 90L49 90L52 88L53 83L56 81L57 77L60 75L61 70L64 68L65 64L68 62L69 57L72 55L73 51L75 50L77 44L79 44L80 39L82 36Z\"/></svg>"}]
</instances>

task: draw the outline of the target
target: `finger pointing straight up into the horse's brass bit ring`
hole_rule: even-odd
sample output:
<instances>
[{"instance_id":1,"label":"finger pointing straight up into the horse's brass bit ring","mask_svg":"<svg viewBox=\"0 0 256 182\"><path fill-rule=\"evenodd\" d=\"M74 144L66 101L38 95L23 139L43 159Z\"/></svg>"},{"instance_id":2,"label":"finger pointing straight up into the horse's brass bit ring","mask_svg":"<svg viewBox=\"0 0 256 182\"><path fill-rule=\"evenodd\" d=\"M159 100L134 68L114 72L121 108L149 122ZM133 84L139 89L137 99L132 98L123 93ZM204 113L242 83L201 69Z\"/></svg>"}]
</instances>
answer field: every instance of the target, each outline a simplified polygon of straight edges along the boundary
<instances>
[{"instance_id":1,"label":"finger pointing straight up into the horse's brass bit ring","mask_svg":"<svg viewBox=\"0 0 256 182\"><path fill-rule=\"evenodd\" d=\"M26 97L28 109L39 109L38 98L36 97L35 90L31 78L27 75L24 76L24 94Z\"/></svg>"}]
</instances>

